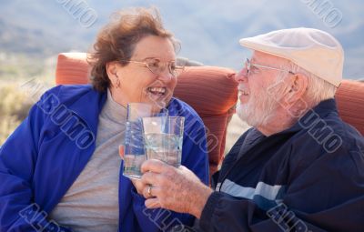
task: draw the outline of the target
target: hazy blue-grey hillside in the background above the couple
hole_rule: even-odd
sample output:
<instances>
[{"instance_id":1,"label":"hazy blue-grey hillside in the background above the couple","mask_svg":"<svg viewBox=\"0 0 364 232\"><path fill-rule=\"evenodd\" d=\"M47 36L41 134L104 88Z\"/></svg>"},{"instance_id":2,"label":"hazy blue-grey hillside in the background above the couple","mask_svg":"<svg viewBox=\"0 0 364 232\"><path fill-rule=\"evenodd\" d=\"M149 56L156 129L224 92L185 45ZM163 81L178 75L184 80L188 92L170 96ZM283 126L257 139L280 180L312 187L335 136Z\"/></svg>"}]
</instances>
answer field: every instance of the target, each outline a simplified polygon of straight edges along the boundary
<instances>
[{"instance_id":1,"label":"hazy blue-grey hillside in the background above the couple","mask_svg":"<svg viewBox=\"0 0 364 232\"><path fill-rule=\"evenodd\" d=\"M315 5L325 2L342 14L333 28L314 12ZM111 13L133 5L156 5L167 28L182 42L180 55L206 65L238 69L248 55L238 45L239 38L306 26L335 35L346 51L345 76L364 77L360 61L364 55L364 4L360 0L2 0L0 53L41 58L70 50L86 51ZM95 24L83 26L76 18L77 7L94 10Z\"/></svg>"}]
</instances>

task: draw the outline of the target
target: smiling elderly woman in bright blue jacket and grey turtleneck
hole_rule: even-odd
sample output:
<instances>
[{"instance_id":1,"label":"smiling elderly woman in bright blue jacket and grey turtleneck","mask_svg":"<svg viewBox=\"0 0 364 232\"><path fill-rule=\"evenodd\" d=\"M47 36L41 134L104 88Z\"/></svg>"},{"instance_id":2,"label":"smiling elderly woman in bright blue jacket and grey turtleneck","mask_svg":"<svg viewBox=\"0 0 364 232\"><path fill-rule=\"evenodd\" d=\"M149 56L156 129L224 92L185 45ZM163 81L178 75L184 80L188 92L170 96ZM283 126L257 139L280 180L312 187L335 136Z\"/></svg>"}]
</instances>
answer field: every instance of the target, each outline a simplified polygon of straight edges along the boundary
<instances>
[{"instance_id":1,"label":"smiling elderly woman in bright blue jacket and grey turtleneck","mask_svg":"<svg viewBox=\"0 0 364 232\"><path fill-rule=\"evenodd\" d=\"M116 14L91 53L91 86L56 86L0 150L0 231L158 231L193 217L150 210L120 174L126 104L185 116L182 165L207 184L205 129L173 98L177 43L157 11ZM136 183L137 185L137 183Z\"/></svg>"}]
</instances>

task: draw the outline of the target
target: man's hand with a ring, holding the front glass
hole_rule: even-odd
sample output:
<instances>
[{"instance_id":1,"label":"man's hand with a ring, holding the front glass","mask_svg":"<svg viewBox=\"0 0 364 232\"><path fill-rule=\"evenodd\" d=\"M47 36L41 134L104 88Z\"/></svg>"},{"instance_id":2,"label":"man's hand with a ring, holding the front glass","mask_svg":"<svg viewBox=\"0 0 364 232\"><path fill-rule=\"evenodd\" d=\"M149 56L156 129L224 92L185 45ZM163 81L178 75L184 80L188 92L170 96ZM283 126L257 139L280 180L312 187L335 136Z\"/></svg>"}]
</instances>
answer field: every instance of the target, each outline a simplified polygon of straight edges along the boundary
<instances>
[{"instance_id":1,"label":"man's hand with a ring, holding the front glass","mask_svg":"<svg viewBox=\"0 0 364 232\"><path fill-rule=\"evenodd\" d=\"M150 159L143 163L143 196L146 207L163 207L179 213L201 216L207 198L213 192L185 166L168 166Z\"/></svg>"}]
</instances>

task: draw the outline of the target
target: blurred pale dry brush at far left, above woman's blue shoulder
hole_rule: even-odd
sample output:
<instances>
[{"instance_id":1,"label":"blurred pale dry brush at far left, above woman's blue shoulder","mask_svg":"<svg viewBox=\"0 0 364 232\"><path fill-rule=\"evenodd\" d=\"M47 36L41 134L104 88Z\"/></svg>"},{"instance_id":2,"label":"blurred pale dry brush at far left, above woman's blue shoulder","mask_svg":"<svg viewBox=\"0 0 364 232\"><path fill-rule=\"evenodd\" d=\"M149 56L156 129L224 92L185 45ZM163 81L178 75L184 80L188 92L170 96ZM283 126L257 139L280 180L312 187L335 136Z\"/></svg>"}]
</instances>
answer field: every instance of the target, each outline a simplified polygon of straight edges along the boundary
<instances>
[{"instance_id":1,"label":"blurred pale dry brush at far left, above woman's blue shoulder","mask_svg":"<svg viewBox=\"0 0 364 232\"><path fill-rule=\"evenodd\" d=\"M56 55L39 58L0 52L0 146L45 89L54 86L55 70Z\"/></svg>"}]
</instances>

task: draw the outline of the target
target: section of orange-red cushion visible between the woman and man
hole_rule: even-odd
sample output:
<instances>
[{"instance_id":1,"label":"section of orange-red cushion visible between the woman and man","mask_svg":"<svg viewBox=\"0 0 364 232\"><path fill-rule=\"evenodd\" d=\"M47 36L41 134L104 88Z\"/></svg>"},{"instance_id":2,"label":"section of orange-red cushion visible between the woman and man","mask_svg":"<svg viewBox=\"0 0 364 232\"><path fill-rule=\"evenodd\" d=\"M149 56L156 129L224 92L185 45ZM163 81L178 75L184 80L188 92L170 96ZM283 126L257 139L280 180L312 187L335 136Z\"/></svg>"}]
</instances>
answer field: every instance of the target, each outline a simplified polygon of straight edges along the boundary
<instances>
[{"instance_id":1,"label":"section of orange-red cushion visible between the woman and man","mask_svg":"<svg viewBox=\"0 0 364 232\"><path fill-rule=\"evenodd\" d=\"M181 76L174 96L187 102L207 126L210 174L217 171L225 150L227 120L238 100L235 72L216 66L191 66Z\"/></svg>"}]
</instances>

